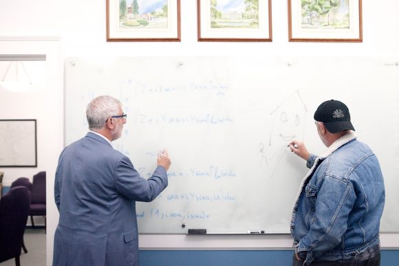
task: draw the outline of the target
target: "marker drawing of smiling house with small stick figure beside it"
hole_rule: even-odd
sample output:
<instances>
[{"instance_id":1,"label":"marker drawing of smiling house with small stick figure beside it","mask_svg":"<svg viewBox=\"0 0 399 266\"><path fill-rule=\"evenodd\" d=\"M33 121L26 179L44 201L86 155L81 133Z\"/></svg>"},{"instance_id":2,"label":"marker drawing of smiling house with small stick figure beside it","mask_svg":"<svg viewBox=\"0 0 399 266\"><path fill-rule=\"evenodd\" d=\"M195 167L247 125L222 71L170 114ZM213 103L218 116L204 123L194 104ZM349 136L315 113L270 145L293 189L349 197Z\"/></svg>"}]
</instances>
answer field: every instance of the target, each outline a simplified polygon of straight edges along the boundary
<instances>
[{"instance_id":1,"label":"marker drawing of smiling house with small stick figure beside it","mask_svg":"<svg viewBox=\"0 0 399 266\"><path fill-rule=\"evenodd\" d=\"M277 167L292 140L303 140L307 108L299 91L285 98L270 112L272 125L268 142L259 144L261 165Z\"/></svg>"}]
</instances>

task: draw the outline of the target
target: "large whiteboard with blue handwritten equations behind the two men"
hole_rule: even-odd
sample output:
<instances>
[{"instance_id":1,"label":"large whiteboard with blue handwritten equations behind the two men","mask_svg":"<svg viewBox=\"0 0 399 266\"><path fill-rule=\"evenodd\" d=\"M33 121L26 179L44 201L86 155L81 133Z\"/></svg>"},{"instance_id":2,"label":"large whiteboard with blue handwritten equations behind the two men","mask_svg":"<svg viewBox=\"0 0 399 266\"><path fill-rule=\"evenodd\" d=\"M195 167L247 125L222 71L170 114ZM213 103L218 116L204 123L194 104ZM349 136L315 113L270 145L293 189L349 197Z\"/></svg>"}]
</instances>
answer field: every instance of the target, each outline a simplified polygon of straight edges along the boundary
<instances>
[{"instance_id":1,"label":"large whiteboard with blue handwritten equations behind the two men","mask_svg":"<svg viewBox=\"0 0 399 266\"><path fill-rule=\"evenodd\" d=\"M286 144L325 151L313 124L325 100L347 104L358 139L385 177L381 230L399 228L398 58L114 57L65 61L65 140L87 133L96 96L123 104L127 124L115 148L142 177L167 148L169 186L137 203L141 233L289 232L305 161Z\"/></svg>"}]
</instances>

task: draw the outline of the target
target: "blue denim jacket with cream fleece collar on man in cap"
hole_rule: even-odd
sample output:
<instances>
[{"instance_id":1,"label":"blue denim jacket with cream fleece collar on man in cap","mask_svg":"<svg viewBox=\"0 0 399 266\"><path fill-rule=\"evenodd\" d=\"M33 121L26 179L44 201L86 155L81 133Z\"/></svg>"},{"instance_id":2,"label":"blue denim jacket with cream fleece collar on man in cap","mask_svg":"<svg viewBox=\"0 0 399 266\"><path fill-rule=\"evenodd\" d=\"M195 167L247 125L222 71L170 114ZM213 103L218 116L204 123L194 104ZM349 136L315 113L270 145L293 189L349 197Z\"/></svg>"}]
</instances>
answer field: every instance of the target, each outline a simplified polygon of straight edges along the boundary
<instances>
[{"instance_id":1,"label":"blue denim jacket with cream fleece collar on man in cap","mask_svg":"<svg viewBox=\"0 0 399 266\"><path fill-rule=\"evenodd\" d=\"M291 219L295 252L314 261L361 261L379 251L385 188L373 151L343 135L320 157L310 155Z\"/></svg>"}]
</instances>

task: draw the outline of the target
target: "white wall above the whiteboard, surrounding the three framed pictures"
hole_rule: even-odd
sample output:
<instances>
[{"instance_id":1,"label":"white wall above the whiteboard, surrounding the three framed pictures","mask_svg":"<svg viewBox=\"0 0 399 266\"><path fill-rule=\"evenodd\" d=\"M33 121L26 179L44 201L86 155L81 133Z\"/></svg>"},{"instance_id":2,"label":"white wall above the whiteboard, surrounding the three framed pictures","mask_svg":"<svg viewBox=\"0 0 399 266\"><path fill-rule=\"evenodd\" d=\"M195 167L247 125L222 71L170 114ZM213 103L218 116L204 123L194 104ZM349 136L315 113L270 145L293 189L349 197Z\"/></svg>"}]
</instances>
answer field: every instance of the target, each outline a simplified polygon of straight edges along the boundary
<instances>
[{"instance_id":1,"label":"white wall above the whiteboard, surrounding the three framed pictures","mask_svg":"<svg viewBox=\"0 0 399 266\"><path fill-rule=\"evenodd\" d=\"M363 0L363 43L288 43L287 2L272 1L272 43L197 43L195 0L181 1L181 43L107 43L105 2L0 0L0 34L61 36L65 56L398 54L399 3Z\"/></svg>"}]
</instances>

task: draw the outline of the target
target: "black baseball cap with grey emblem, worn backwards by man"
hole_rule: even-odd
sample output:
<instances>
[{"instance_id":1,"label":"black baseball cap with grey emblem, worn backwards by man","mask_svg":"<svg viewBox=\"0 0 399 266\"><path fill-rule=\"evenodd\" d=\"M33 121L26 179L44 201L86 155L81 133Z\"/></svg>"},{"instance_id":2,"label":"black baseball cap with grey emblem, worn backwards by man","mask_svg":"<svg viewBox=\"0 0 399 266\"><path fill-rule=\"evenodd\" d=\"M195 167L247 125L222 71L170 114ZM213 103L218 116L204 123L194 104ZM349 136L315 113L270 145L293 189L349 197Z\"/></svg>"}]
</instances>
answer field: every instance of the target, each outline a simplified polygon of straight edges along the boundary
<instances>
[{"instance_id":1,"label":"black baseball cap with grey emblem, worn backwards by man","mask_svg":"<svg viewBox=\"0 0 399 266\"><path fill-rule=\"evenodd\" d=\"M323 122L330 133L344 130L355 130L351 123L351 115L347 106L338 100L327 100L317 107L314 120Z\"/></svg>"}]
</instances>

